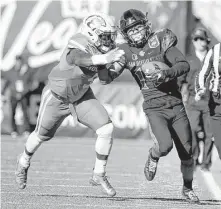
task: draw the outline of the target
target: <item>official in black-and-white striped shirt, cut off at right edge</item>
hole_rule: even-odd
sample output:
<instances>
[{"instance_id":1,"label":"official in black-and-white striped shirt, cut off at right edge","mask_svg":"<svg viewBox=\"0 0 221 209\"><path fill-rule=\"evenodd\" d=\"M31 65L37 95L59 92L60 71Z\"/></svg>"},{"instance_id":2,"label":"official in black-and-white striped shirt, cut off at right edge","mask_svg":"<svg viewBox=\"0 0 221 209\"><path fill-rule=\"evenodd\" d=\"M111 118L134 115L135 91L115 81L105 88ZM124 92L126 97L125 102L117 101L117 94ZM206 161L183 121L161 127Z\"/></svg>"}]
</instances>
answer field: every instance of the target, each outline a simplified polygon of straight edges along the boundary
<instances>
[{"instance_id":1,"label":"official in black-and-white striped shirt, cut off at right edge","mask_svg":"<svg viewBox=\"0 0 221 209\"><path fill-rule=\"evenodd\" d=\"M212 75L210 77L210 75ZM210 114L215 145L221 159L221 43L209 50L204 60L203 67L196 77L195 100L199 102L206 94L206 82L209 78L209 90L211 92Z\"/></svg>"}]
</instances>

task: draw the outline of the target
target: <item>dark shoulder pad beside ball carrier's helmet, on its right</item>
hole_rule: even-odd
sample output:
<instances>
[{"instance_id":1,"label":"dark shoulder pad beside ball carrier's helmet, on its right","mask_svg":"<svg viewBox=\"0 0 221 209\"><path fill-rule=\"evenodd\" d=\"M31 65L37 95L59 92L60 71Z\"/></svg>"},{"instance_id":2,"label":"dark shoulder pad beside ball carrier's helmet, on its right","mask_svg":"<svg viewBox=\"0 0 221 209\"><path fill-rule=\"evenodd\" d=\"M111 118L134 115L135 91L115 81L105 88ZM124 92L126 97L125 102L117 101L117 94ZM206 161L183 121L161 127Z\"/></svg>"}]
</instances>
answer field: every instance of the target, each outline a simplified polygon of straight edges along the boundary
<instances>
[{"instance_id":1,"label":"dark shoulder pad beside ball carrier's helmet, on its right","mask_svg":"<svg viewBox=\"0 0 221 209\"><path fill-rule=\"evenodd\" d=\"M164 28L158 30L155 32L155 34L157 34L160 40L161 48L163 49L163 51L166 51L172 46L176 46L177 37L170 29Z\"/></svg>"}]
</instances>

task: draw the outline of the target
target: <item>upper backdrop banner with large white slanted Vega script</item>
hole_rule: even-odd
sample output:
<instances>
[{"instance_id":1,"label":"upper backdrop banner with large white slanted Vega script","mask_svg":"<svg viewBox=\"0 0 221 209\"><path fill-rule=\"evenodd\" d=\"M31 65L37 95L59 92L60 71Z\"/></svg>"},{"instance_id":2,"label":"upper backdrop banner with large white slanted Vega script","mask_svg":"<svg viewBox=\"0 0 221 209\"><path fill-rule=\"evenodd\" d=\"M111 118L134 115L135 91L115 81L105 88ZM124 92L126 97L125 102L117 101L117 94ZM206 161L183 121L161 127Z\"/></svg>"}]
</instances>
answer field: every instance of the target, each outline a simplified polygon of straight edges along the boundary
<instances>
[{"instance_id":1,"label":"upper backdrop banner with large white slanted Vega script","mask_svg":"<svg viewBox=\"0 0 221 209\"><path fill-rule=\"evenodd\" d=\"M33 68L40 68L39 80L47 79L52 65L59 60L68 39L78 31L82 19L93 12L113 16L118 24L127 9L148 12L153 30L170 28L184 52L186 38L186 2L112 1L112 0L39 0L1 1L1 68L13 67L16 55L23 54ZM128 73L122 80L131 81Z\"/></svg>"}]
</instances>

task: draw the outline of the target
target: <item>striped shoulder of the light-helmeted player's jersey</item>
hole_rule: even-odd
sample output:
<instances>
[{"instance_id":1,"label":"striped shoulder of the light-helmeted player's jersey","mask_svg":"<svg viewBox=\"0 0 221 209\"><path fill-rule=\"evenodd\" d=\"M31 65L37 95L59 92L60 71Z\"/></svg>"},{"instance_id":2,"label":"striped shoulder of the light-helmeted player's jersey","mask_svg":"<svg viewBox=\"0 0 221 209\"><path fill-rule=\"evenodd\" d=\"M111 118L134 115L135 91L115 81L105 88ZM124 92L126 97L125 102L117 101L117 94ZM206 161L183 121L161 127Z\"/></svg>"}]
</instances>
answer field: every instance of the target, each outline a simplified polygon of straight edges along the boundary
<instances>
[{"instance_id":1,"label":"striped shoulder of the light-helmeted player's jersey","mask_svg":"<svg viewBox=\"0 0 221 209\"><path fill-rule=\"evenodd\" d=\"M67 47L70 49L80 49L87 52L88 45L88 38L81 33L77 33L69 39Z\"/></svg>"}]
</instances>

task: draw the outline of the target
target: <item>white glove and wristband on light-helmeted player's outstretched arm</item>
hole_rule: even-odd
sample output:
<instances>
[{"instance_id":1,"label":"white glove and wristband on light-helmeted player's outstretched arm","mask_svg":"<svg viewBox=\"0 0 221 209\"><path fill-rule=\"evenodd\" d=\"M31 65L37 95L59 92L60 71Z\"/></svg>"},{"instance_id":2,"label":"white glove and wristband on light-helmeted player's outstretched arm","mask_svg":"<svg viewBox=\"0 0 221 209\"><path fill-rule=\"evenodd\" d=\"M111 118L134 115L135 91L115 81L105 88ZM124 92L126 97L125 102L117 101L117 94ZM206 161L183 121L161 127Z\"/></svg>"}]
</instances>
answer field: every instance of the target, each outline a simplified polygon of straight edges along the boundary
<instances>
[{"instance_id":1,"label":"white glove and wristband on light-helmeted player's outstretched arm","mask_svg":"<svg viewBox=\"0 0 221 209\"><path fill-rule=\"evenodd\" d=\"M108 63L113 63L119 61L120 58L125 54L121 49L113 49L106 54L98 54L92 56L93 65L106 65Z\"/></svg>"}]
</instances>

